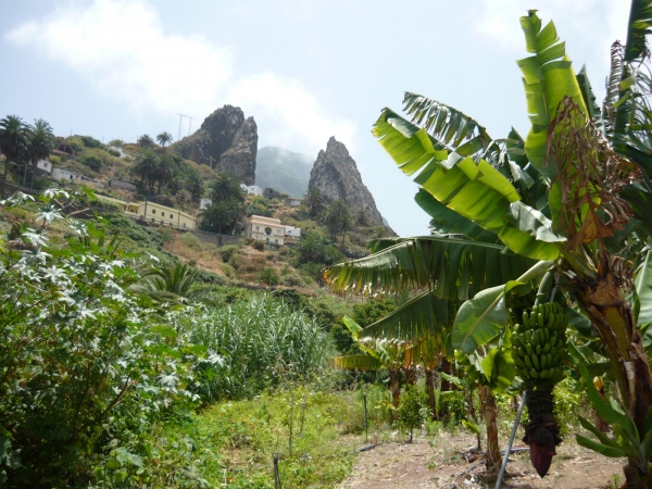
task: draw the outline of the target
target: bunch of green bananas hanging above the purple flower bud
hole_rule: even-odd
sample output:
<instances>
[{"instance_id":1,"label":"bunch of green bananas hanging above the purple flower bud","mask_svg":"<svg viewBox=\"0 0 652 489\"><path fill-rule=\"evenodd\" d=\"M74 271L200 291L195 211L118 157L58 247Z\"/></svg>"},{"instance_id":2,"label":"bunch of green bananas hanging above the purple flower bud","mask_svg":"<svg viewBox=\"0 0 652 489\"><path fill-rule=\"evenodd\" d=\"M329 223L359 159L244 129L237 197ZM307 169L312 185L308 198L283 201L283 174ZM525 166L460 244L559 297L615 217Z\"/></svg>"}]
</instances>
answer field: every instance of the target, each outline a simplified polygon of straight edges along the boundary
<instances>
[{"instance_id":1,"label":"bunch of green bananas hanging above the purple flower bud","mask_svg":"<svg viewBox=\"0 0 652 489\"><path fill-rule=\"evenodd\" d=\"M556 302L535 305L523 313L523 324L514 326L512 355L524 379L546 381L562 368L566 354L568 319Z\"/></svg>"}]
</instances>

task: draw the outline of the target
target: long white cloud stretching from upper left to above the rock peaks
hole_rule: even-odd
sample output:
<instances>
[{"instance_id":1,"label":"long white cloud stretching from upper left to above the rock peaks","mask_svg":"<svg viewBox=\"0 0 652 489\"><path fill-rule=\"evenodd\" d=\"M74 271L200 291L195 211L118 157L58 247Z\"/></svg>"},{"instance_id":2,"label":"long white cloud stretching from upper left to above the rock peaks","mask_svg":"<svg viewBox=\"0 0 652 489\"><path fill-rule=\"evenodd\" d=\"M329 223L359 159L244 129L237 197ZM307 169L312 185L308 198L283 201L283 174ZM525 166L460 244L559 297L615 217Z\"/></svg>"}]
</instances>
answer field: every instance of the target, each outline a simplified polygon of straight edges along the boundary
<instances>
[{"instance_id":1,"label":"long white cloud stretching from upper left to above the rock peaks","mask_svg":"<svg viewBox=\"0 0 652 489\"><path fill-rule=\"evenodd\" d=\"M45 53L136 113L203 117L234 103L269 128L268 136L278 137L279 145L312 150L333 135L353 142L354 124L330 116L299 80L272 72L238 75L229 47L202 36L170 34L147 0L66 3L5 38Z\"/></svg>"}]
</instances>

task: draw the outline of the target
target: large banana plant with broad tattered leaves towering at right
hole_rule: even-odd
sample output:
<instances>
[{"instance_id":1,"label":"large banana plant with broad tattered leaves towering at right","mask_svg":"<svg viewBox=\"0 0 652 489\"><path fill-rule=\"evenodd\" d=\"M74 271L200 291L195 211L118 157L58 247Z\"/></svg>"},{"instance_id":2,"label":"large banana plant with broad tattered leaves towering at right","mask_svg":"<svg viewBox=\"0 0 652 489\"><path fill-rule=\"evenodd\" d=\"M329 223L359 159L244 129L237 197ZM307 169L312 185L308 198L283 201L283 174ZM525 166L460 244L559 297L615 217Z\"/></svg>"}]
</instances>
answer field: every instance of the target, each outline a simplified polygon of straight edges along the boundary
<instances>
[{"instance_id":1,"label":"large banana plant with broad tattered leaves towering at right","mask_svg":"<svg viewBox=\"0 0 652 489\"><path fill-rule=\"evenodd\" d=\"M435 218L439 233L492 242L513 256L537 262L507 285L491 287L480 285L481 276L480 280L463 276L462 284L469 286L466 292L475 297L460 308L453 346L473 353L497 337L510 321L503 304L514 285L539 285L543 301L549 300L552 284L559 292L567 292L566 300L572 299L598 331L624 409L632 419L628 432L634 435L619 437L627 438L631 450L610 452L600 443L586 443L602 453L627 456L628 487L647 487L652 454L643 450L641 440L652 405L652 372L640 328L652 322L652 255L644 248L652 235L652 138L648 130L652 112L650 80L639 66L648 55L652 2L631 2L627 43L612 47L602 110L594 103L586 70L574 73L554 25L542 28L534 11L521 22L532 53L518 62L532 122L525 139L513 129L506 139L494 140L475 120L415 93L404 98L410 120L385 109L374 134L405 174L418 174L417 202ZM342 288L360 279L354 286L359 290L429 283L424 278L436 272L431 265L440 259L428 263L422 259L431 260L430 255L410 254L401 247L409 242L415 250L419 240L394 243L393 249L387 247L371 256L367 264L375 263L376 268L369 266L364 274L364 267L359 267L347 277L352 265L340 274L331 273L330 278ZM408 261L391 262L392 256ZM459 275L461 262L455 258L451 263ZM440 277L451 284L447 274ZM635 277L638 312L624 292ZM581 360L575 361L586 372ZM607 421L623 432L618 419L614 415ZM540 427L530 425L528 437L531 428ZM579 437L578 441L585 443Z\"/></svg>"}]
</instances>

